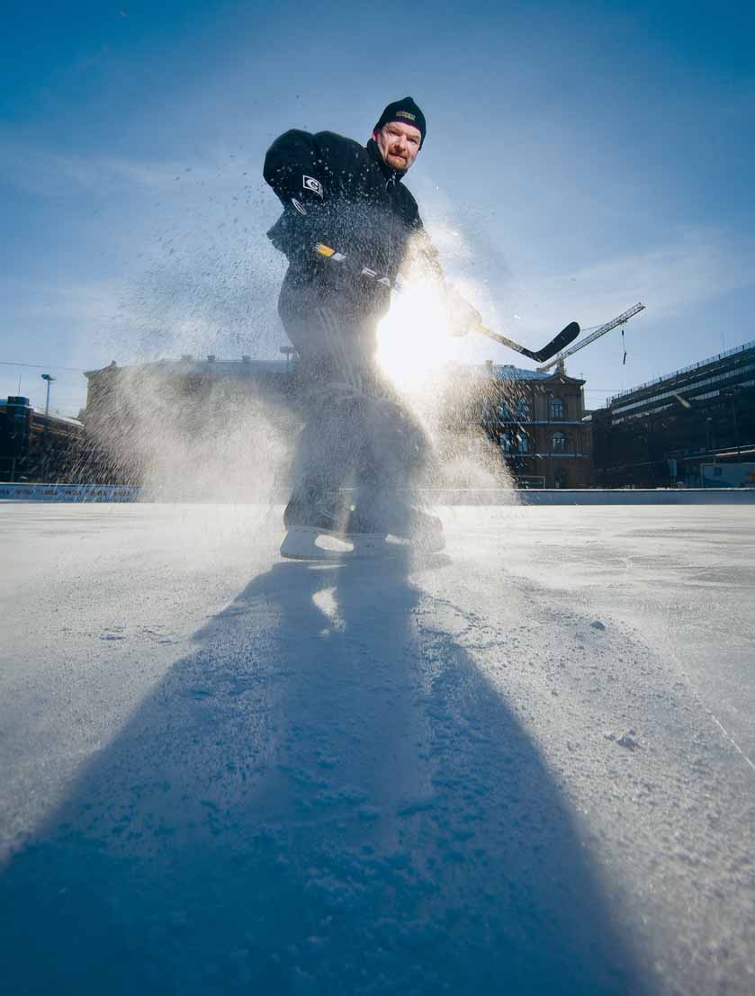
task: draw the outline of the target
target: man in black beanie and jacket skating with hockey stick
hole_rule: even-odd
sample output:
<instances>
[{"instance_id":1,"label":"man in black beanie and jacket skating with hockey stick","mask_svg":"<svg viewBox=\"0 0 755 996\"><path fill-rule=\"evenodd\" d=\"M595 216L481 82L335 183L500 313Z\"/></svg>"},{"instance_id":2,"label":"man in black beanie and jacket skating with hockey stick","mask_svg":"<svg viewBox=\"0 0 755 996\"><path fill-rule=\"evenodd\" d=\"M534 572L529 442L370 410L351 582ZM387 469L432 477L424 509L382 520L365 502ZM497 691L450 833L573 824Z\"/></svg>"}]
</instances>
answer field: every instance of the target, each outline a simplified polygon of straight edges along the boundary
<instances>
[{"instance_id":1,"label":"man in black beanie and jacket skating with hockey stick","mask_svg":"<svg viewBox=\"0 0 755 996\"><path fill-rule=\"evenodd\" d=\"M399 270L413 261L443 282L401 182L426 130L406 97L385 108L366 146L333 131L290 130L265 157L265 179L284 208L268 237L289 261L278 311L300 357L308 409L284 556L319 556L323 533L348 536L355 553L375 552L388 534L442 548L439 520L396 496L421 469L427 442L376 365L378 322ZM459 332L479 323L447 293Z\"/></svg>"}]
</instances>

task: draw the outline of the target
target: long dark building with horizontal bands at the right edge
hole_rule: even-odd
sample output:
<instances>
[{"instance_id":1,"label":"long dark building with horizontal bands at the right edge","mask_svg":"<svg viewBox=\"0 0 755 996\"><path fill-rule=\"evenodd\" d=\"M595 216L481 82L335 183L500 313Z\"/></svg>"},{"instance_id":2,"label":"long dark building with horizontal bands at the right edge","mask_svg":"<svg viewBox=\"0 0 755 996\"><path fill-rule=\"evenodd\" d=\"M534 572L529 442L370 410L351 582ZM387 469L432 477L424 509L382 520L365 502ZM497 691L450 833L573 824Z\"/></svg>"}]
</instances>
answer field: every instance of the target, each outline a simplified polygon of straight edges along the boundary
<instances>
[{"instance_id":1,"label":"long dark building with horizontal bands at the right edge","mask_svg":"<svg viewBox=\"0 0 755 996\"><path fill-rule=\"evenodd\" d=\"M701 468L755 460L755 343L640 384L593 412L604 487L699 485Z\"/></svg>"}]
</instances>

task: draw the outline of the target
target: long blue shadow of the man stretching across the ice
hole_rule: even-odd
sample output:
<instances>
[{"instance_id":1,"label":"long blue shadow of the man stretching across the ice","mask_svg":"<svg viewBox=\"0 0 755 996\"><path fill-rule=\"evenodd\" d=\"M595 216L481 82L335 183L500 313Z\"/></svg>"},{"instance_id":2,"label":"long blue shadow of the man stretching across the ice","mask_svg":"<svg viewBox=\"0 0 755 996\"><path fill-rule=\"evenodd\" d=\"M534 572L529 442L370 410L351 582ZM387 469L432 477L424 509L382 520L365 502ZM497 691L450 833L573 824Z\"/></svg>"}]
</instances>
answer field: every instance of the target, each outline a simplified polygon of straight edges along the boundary
<instances>
[{"instance_id":1,"label":"long blue shadow of the man stretching across the ice","mask_svg":"<svg viewBox=\"0 0 755 996\"><path fill-rule=\"evenodd\" d=\"M537 749L424 612L400 559L256 578L5 872L6 991L644 991Z\"/></svg>"}]
</instances>

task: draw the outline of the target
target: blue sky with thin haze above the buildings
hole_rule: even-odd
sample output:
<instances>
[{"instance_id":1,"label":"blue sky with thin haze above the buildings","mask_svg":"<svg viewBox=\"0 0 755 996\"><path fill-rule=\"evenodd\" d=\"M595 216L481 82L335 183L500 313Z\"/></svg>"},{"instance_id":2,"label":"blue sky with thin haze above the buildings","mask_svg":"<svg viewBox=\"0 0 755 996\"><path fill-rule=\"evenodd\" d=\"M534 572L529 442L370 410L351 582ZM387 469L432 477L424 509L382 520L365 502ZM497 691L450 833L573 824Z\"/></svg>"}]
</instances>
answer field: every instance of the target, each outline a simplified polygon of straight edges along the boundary
<instances>
[{"instance_id":1,"label":"blue sky with thin haze above the buildings","mask_svg":"<svg viewBox=\"0 0 755 996\"><path fill-rule=\"evenodd\" d=\"M284 343L287 127L369 137L411 94L407 179L487 324L568 365L588 403L755 339L755 15L666 3L47 3L0 41L0 396L84 404L117 360ZM458 358L514 362L477 337ZM41 364L39 367L11 366ZM66 370L66 368L71 368Z\"/></svg>"}]
</instances>

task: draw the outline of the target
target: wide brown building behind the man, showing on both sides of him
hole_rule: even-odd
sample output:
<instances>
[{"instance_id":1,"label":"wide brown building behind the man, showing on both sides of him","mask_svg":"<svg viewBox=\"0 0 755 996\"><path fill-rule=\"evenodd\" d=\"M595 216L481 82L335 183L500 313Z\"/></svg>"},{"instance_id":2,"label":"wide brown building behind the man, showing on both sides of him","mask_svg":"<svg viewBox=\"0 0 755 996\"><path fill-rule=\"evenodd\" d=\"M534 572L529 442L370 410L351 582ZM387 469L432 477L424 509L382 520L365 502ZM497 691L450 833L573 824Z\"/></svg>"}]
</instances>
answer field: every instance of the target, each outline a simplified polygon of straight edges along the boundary
<instances>
[{"instance_id":1,"label":"wide brown building behind the man, showing on both sides of him","mask_svg":"<svg viewBox=\"0 0 755 996\"><path fill-rule=\"evenodd\" d=\"M210 450L216 464L231 469L234 429L249 430L261 416L290 435L299 419L301 383L290 350L281 362L184 356L135 367L113 363L86 376L88 450L82 463L86 479L101 484L142 483L155 459L163 477L182 473L185 479L197 473L198 460L210 459ZM588 487L591 435L583 384L563 369L538 373L489 363L444 373L435 403L452 436L487 435L522 486ZM171 457L182 449L190 456L179 466Z\"/></svg>"}]
</instances>

